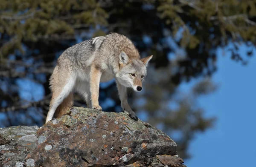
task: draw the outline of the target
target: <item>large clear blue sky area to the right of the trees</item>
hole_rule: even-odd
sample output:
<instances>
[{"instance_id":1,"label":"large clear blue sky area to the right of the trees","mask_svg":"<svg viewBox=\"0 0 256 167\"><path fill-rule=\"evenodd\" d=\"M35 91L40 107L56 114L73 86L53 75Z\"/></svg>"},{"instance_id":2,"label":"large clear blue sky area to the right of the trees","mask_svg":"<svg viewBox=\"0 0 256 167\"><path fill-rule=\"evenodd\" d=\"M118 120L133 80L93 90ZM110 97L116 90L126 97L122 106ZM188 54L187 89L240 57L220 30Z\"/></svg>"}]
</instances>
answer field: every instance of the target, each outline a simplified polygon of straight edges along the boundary
<instances>
[{"instance_id":1,"label":"large clear blue sky area to the right of the trees","mask_svg":"<svg viewBox=\"0 0 256 167\"><path fill-rule=\"evenodd\" d=\"M227 50L227 49L226 49ZM244 46L241 47L244 51ZM218 71L212 80L218 89L199 98L206 116L217 116L215 127L198 133L189 147L188 167L256 166L256 57L247 66L230 60L217 49ZM171 136L170 136L171 137ZM252 161L251 161L252 160Z\"/></svg>"}]
</instances>

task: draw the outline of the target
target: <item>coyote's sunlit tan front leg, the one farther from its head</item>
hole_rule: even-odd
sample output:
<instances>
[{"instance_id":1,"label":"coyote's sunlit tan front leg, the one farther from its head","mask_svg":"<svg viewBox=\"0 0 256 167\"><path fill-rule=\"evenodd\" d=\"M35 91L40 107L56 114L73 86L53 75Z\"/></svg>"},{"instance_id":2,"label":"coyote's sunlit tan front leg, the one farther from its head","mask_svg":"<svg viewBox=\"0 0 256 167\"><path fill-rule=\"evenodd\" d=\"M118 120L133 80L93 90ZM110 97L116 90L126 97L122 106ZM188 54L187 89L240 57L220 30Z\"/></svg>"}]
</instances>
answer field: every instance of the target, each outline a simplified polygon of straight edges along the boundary
<instances>
[{"instance_id":1,"label":"coyote's sunlit tan front leg, the one farther from its head","mask_svg":"<svg viewBox=\"0 0 256 167\"><path fill-rule=\"evenodd\" d=\"M90 71L91 104L93 109L100 111L102 111L102 107L99 106L99 82L101 75L101 70L96 68L95 65L92 65Z\"/></svg>"}]
</instances>

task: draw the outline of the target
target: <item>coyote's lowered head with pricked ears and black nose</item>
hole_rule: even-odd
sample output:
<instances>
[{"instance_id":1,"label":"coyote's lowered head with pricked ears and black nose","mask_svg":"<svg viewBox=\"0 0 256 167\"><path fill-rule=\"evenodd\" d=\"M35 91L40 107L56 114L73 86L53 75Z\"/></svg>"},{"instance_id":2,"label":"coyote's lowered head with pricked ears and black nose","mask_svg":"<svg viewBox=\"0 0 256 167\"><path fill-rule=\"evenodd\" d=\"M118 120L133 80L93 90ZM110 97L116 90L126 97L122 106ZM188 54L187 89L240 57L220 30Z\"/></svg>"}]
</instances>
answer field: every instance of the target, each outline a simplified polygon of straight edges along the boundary
<instances>
[{"instance_id":1,"label":"coyote's lowered head with pricked ears and black nose","mask_svg":"<svg viewBox=\"0 0 256 167\"><path fill-rule=\"evenodd\" d=\"M142 82L147 75L147 66L149 60L153 56L146 58L129 58L128 55L122 51L119 55L120 70L116 73L116 79L125 87L131 87L136 92L140 92L143 88Z\"/></svg>"}]
</instances>

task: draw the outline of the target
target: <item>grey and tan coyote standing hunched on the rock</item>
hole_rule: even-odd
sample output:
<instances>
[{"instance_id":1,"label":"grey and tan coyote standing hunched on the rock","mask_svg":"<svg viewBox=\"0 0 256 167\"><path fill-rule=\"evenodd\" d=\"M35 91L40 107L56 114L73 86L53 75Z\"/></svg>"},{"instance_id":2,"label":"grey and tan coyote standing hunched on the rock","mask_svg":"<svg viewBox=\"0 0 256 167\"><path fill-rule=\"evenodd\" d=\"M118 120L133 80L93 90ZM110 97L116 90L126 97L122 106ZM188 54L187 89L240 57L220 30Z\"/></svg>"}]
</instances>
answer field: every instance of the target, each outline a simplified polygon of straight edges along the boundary
<instances>
[{"instance_id":1,"label":"grey and tan coyote standing hunched on the rock","mask_svg":"<svg viewBox=\"0 0 256 167\"><path fill-rule=\"evenodd\" d=\"M125 113L138 120L127 101L127 87L140 92L152 55L140 59L131 40L124 35L110 33L85 40L66 49L58 58L50 77L52 99L46 123L73 106L73 90L86 101L88 108L98 109L99 83L113 78Z\"/></svg>"}]
</instances>

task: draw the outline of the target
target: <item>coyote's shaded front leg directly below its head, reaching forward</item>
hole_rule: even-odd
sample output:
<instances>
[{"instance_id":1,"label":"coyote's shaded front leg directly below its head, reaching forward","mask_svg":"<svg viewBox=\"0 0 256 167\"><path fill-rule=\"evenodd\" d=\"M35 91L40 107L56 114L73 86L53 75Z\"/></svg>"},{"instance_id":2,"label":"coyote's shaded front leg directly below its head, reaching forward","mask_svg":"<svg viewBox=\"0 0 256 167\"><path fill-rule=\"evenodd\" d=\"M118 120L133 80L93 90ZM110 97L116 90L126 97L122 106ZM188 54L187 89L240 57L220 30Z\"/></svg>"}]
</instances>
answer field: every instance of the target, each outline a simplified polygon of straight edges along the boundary
<instances>
[{"instance_id":1,"label":"coyote's shaded front leg directly below its head, reaching forward","mask_svg":"<svg viewBox=\"0 0 256 167\"><path fill-rule=\"evenodd\" d=\"M138 117L135 115L134 111L131 109L131 107L128 104L127 101L127 88L125 86L122 86L120 83L116 82L119 96L121 100L121 106L125 113L127 113L132 119L135 121L138 120Z\"/></svg>"}]
</instances>

